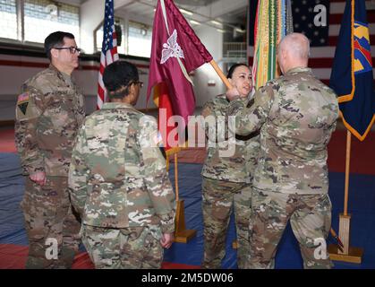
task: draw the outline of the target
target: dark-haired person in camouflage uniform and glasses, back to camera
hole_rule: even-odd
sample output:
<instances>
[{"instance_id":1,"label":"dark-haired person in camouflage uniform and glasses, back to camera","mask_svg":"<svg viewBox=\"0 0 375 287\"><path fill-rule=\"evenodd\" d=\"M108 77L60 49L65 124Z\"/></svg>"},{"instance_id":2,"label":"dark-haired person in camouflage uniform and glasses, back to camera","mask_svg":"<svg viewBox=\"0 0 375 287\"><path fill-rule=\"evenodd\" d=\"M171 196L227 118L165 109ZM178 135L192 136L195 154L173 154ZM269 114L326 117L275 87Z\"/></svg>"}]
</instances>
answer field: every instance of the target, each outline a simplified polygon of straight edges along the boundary
<instances>
[{"instance_id":1,"label":"dark-haired person in camouflage uniform and glasses, back to camera","mask_svg":"<svg viewBox=\"0 0 375 287\"><path fill-rule=\"evenodd\" d=\"M174 240L175 195L154 117L133 108L141 82L127 62L108 65L111 102L86 117L72 152L69 186L96 268L159 268Z\"/></svg>"}]
</instances>

